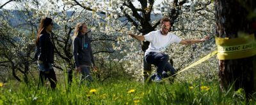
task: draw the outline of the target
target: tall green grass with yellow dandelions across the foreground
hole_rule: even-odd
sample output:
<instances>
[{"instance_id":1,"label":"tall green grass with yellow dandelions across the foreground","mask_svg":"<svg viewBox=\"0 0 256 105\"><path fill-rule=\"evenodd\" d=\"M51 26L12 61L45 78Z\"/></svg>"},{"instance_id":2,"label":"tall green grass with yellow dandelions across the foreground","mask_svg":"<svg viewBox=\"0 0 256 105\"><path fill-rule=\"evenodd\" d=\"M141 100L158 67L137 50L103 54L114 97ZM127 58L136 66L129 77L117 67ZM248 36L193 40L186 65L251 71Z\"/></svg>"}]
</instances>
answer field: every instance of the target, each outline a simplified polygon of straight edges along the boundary
<instances>
[{"instance_id":1,"label":"tall green grass with yellow dandelions across the foreground","mask_svg":"<svg viewBox=\"0 0 256 105\"><path fill-rule=\"evenodd\" d=\"M230 88L232 90L232 88ZM52 90L9 83L0 88L0 104L256 104L255 97L245 98L243 89L220 92L218 80L198 78L193 81L141 83L125 78L104 83L94 81L79 87L79 78L72 85L60 82Z\"/></svg>"}]
</instances>

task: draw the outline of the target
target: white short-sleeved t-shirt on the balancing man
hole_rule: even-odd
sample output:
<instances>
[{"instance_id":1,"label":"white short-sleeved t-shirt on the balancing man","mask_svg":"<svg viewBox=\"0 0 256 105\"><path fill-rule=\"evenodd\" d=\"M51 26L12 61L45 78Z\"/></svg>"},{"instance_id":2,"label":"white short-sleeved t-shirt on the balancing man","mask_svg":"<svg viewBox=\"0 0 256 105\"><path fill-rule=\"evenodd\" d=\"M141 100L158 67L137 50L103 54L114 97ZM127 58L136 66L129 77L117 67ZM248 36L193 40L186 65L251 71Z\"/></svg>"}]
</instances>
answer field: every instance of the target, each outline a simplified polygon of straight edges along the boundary
<instances>
[{"instance_id":1,"label":"white short-sleeved t-shirt on the balancing man","mask_svg":"<svg viewBox=\"0 0 256 105\"><path fill-rule=\"evenodd\" d=\"M161 34L161 31L152 31L144 36L146 41L149 41L150 44L148 49L145 52L147 55L149 52L164 52L166 48L172 43L180 43L181 38L168 32L166 36Z\"/></svg>"}]
</instances>

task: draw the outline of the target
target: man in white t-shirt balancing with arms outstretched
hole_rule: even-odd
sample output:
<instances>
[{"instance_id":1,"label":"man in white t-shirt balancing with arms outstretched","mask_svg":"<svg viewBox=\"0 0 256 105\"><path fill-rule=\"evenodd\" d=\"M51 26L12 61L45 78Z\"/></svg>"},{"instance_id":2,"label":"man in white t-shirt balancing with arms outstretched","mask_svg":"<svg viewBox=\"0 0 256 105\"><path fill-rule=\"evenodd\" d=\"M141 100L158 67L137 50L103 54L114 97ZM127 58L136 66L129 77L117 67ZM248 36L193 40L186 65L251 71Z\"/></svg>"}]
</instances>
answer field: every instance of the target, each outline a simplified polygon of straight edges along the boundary
<instances>
[{"instance_id":1,"label":"man in white t-shirt balancing with arms outstretched","mask_svg":"<svg viewBox=\"0 0 256 105\"><path fill-rule=\"evenodd\" d=\"M149 41L150 45L145 52L145 60L148 64L154 64L157 67L157 72L152 78L154 81L160 82L163 78L163 71L168 70L172 74L176 73L176 70L168 62L168 55L163 52L172 43L179 43L183 45L191 45L195 43L203 42L209 39L209 36L205 36L203 39L180 39L175 34L170 33L171 20L169 18L161 19L161 30L152 31L145 36L136 36L134 34L129 34L132 38L138 39L139 41Z\"/></svg>"}]
</instances>

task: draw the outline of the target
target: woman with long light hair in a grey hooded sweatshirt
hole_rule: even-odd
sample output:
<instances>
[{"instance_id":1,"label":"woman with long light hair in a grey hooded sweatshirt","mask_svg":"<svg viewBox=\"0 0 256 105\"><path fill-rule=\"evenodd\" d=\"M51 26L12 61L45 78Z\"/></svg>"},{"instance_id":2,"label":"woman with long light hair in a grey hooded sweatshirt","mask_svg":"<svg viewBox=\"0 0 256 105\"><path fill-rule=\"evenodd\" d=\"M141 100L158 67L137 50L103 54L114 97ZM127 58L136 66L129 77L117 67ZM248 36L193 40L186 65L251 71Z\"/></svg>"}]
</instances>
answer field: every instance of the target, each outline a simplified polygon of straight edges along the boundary
<instances>
[{"instance_id":1,"label":"woman with long light hair in a grey hooded sweatshirt","mask_svg":"<svg viewBox=\"0 0 256 105\"><path fill-rule=\"evenodd\" d=\"M76 71L82 73L81 82L84 79L92 82L93 79L90 74L90 67L93 66L93 69L97 69L92 53L91 39L88 37L87 33L87 25L85 23L76 25L73 36L73 54Z\"/></svg>"}]
</instances>

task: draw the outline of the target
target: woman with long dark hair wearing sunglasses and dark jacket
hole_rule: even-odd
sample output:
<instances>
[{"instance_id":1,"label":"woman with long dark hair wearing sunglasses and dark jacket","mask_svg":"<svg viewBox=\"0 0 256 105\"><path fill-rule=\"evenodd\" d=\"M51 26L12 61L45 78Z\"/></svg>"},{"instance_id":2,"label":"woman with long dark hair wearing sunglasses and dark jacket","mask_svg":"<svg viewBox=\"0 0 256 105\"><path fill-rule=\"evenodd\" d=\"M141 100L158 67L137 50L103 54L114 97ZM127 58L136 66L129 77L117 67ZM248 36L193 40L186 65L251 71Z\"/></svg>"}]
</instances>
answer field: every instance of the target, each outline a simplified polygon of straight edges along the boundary
<instances>
[{"instance_id":1,"label":"woman with long dark hair wearing sunglasses and dark jacket","mask_svg":"<svg viewBox=\"0 0 256 105\"><path fill-rule=\"evenodd\" d=\"M51 88L56 87L57 79L52 64L54 63L54 45L52 42L52 18L42 18L36 38L36 46L38 54L38 68L40 70L40 85L44 85L44 81L48 78Z\"/></svg>"}]
</instances>

